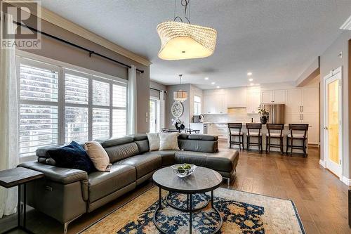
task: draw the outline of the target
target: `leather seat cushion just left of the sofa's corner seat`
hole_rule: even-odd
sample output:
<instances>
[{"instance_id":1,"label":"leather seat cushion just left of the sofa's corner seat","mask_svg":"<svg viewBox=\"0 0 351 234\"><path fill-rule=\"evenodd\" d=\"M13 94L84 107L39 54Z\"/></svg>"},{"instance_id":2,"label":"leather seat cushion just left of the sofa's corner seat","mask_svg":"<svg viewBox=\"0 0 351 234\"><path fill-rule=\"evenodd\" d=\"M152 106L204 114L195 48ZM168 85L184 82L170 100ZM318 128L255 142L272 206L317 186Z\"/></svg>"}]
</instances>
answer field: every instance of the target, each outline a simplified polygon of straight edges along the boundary
<instances>
[{"instance_id":1,"label":"leather seat cushion just left of the sofa's corner seat","mask_svg":"<svg viewBox=\"0 0 351 234\"><path fill-rule=\"evenodd\" d=\"M116 162L119 165L129 165L136 169L136 178L141 178L146 174L159 169L162 166L161 155L154 154L143 154L128 157L125 160Z\"/></svg>"}]
</instances>

